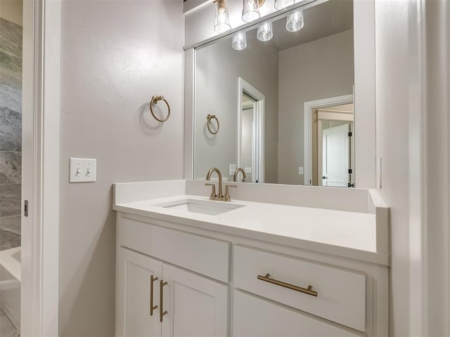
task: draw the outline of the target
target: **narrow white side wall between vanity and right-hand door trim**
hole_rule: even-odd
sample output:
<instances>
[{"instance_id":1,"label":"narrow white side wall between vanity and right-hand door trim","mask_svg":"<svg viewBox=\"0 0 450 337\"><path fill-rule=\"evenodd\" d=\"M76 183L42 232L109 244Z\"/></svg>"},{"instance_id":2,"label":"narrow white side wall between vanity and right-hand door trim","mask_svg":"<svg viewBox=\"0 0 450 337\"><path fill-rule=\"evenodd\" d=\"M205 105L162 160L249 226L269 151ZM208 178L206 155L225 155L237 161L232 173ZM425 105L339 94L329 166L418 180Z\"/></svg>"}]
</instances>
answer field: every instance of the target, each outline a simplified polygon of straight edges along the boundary
<instances>
[{"instance_id":1,"label":"narrow white side wall between vanity and right-hand door trim","mask_svg":"<svg viewBox=\"0 0 450 337\"><path fill-rule=\"evenodd\" d=\"M391 207L390 334L410 331L409 223L409 30L406 1L375 3L377 154L382 157L382 188ZM418 331L417 331L418 332ZM417 335L418 336L418 335Z\"/></svg>"}]
</instances>

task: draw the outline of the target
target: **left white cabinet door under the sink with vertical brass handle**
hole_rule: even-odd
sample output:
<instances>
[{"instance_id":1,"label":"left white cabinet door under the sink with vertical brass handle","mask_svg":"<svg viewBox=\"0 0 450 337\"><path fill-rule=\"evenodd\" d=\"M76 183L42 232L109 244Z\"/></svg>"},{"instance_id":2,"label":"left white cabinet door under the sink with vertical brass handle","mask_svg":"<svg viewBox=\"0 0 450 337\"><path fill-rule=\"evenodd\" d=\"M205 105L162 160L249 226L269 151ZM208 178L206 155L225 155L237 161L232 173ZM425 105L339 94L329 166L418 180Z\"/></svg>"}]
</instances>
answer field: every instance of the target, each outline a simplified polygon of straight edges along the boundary
<instances>
[{"instance_id":1,"label":"left white cabinet door under the sink with vertical brass handle","mask_svg":"<svg viewBox=\"0 0 450 337\"><path fill-rule=\"evenodd\" d=\"M150 316L151 279L153 306L160 300L162 263L134 251L117 252L116 336L161 336L159 308Z\"/></svg>"}]
</instances>

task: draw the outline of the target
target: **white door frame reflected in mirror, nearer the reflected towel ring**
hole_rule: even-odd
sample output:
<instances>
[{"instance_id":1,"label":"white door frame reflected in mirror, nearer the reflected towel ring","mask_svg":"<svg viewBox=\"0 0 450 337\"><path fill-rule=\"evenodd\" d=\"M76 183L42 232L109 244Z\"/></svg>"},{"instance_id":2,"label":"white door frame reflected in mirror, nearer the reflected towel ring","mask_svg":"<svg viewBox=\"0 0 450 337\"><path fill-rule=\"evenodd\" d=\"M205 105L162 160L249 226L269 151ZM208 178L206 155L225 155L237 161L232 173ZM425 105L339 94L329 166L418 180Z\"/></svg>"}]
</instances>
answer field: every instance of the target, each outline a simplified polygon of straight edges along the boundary
<instances>
[{"instance_id":1,"label":"white door frame reflected in mirror, nearer the reflected towel ring","mask_svg":"<svg viewBox=\"0 0 450 337\"><path fill-rule=\"evenodd\" d=\"M257 147L255 151L255 156L252 157L252 180L257 180L258 183L264 183L264 149L265 149L265 141L264 141L264 108L266 106L266 96L257 90L254 86L245 81L242 77L238 77L238 167L240 167L240 146L241 146L241 117L242 117L242 93L248 93L248 95L252 96L256 100L253 109L253 121L255 123L255 133L256 135L253 137L255 140L253 142L253 150ZM256 144L259 146L256 146ZM257 168L257 169L256 169Z\"/></svg>"}]
</instances>

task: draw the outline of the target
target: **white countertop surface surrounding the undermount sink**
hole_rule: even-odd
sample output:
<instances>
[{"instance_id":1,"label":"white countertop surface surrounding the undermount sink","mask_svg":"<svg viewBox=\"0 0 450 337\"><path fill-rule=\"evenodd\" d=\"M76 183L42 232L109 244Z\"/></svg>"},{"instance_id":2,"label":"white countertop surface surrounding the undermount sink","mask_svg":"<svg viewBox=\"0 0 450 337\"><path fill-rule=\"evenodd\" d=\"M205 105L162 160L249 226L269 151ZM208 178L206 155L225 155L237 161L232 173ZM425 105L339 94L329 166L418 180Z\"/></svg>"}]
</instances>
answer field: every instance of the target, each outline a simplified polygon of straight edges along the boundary
<instances>
[{"instance_id":1,"label":"white countertop surface surrounding the undermount sink","mask_svg":"<svg viewBox=\"0 0 450 337\"><path fill-rule=\"evenodd\" d=\"M210 201L207 197L179 194L115 204L113 209L206 230L262 239L366 262L388 264L387 254L377 252L374 213L243 200L211 201L218 205L244 205L218 215L156 206L180 199Z\"/></svg>"}]
</instances>

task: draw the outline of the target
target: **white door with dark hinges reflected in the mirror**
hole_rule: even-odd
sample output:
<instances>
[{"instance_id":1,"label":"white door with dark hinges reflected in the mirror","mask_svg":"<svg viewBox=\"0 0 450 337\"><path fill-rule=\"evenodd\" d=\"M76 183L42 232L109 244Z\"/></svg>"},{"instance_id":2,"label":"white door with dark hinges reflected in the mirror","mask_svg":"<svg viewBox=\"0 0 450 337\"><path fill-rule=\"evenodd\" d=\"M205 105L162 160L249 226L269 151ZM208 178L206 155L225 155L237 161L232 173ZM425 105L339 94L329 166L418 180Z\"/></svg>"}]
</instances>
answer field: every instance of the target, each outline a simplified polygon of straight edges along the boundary
<instances>
[{"instance_id":1,"label":"white door with dark hinges reflected in the mirror","mask_svg":"<svg viewBox=\"0 0 450 337\"><path fill-rule=\"evenodd\" d=\"M322 186L348 187L350 124L322 131Z\"/></svg>"}]
</instances>

